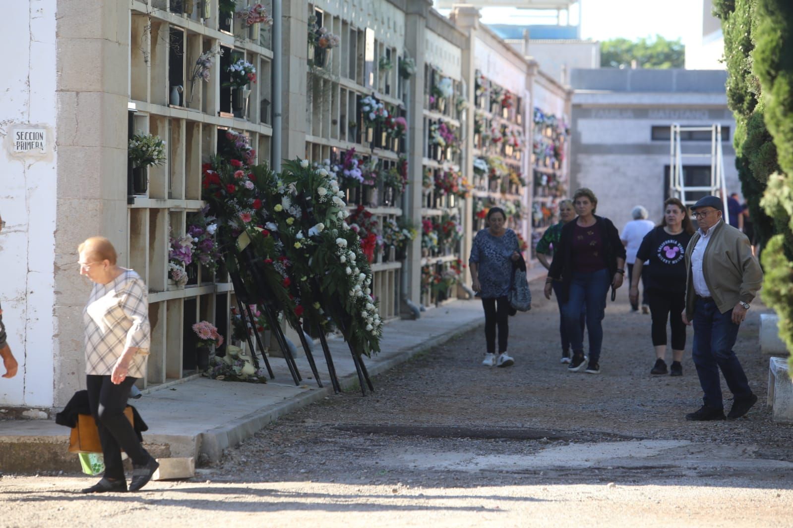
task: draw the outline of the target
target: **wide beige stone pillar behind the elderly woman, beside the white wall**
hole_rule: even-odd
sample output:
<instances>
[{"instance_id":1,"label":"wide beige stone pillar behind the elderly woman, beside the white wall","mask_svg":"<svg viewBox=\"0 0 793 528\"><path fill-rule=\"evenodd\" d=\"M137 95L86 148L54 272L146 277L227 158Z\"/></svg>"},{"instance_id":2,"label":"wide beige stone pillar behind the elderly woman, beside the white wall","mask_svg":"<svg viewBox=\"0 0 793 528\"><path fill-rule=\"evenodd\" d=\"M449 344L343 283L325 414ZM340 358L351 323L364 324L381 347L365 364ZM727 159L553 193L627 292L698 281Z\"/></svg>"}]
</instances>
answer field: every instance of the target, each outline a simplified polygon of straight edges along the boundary
<instances>
[{"instance_id":1,"label":"wide beige stone pillar behind the elderly woman, beside the white wall","mask_svg":"<svg viewBox=\"0 0 793 528\"><path fill-rule=\"evenodd\" d=\"M59 0L57 17L57 207L54 405L85 386L77 245L108 237L128 263L127 102L129 6ZM169 139L167 139L169 140Z\"/></svg>"}]
</instances>

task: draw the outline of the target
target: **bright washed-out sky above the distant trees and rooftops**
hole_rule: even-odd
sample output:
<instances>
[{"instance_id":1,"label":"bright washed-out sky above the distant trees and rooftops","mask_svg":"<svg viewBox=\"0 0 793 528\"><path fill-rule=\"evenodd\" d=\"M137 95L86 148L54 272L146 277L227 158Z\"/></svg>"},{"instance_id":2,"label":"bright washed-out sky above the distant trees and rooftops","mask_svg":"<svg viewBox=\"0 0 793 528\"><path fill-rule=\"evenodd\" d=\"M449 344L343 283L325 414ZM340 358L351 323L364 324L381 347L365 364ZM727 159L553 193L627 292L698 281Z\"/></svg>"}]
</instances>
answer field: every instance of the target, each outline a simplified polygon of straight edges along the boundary
<instances>
[{"instance_id":1,"label":"bright washed-out sky above the distant trees and rooftops","mask_svg":"<svg viewBox=\"0 0 793 528\"><path fill-rule=\"evenodd\" d=\"M462 1L462 0L461 0ZM695 34L701 24L702 3L699 0L580 0L581 36L584 39L607 40L616 37L635 40L642 36L662 35L668 39L682 38ZM571 9L573 24L577 23L577 8ZM446 13L444 9L442 12ZM544 23L542 17L527 17L521 9L488 7L482 9L485 24L499 24L505 20L519 23ZM555 11L547 23L555 23Z\"/></svg>"}]
</instances>

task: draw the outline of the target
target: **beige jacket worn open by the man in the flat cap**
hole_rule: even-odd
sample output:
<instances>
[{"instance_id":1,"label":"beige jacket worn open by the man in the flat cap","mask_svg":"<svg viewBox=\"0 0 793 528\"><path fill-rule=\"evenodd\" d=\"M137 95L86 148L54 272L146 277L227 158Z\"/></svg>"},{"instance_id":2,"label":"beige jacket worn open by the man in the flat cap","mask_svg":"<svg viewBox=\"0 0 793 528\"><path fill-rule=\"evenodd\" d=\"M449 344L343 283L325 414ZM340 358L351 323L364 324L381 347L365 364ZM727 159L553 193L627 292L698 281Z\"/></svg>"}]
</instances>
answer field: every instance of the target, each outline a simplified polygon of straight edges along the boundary
<instances>
[{"instance_id":1,"label":"beige jacket worn open by the man in the flat cap","mask_svg":"<svg viewBox=\"0 0 793 528\"><path fill-rule=\"evenodd\" d=\"M752 254L749 238L721 220L711 227L711 241L703 255L703 275L718 311L732 310L738 301L752 302L763 286L763 270ZM693 321L694 283L691 279L691 252L699 241L699 230L691 237L686 248L686 317Z\"/></svg>"}]
</instances>

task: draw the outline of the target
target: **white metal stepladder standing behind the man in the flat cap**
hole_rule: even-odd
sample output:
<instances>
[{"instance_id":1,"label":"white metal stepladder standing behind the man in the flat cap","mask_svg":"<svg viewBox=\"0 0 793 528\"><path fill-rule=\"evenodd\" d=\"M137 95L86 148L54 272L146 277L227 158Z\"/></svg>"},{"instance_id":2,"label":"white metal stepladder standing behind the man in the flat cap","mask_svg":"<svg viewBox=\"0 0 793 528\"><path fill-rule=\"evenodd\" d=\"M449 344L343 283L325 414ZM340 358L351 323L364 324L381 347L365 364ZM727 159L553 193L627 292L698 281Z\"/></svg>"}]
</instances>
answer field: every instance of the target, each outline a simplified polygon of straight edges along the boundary
<instances>
[{"instance_id":1,"label":"white metal stepladder standing behind the man in the flat cap","mask_svg":"<svg viewBox=\"0 0 793 528\"><path fill-rule=\"evenodd\" d=\"M688 133L710 132L711 133L711 152L687 153L684 152L683 135ZM688 142L688 145L696 143ZM702 142L699 142L701 145ZM721 196L724 203L724 222L730 222L730 211L727 208L727 190L724 181L724 156L722 154L722 125L713 124L710 127L684 127L677 123L672 124L669 137L669 157L670 157L670 195L679 198L685 206L690 207L696 203L696 199L691 199L691 193L708 192L714 196ZM709 159L711 163L711 184L690 186L686 185L684 178L684 161L699 158Z\"/></svg>"}]
</instances>

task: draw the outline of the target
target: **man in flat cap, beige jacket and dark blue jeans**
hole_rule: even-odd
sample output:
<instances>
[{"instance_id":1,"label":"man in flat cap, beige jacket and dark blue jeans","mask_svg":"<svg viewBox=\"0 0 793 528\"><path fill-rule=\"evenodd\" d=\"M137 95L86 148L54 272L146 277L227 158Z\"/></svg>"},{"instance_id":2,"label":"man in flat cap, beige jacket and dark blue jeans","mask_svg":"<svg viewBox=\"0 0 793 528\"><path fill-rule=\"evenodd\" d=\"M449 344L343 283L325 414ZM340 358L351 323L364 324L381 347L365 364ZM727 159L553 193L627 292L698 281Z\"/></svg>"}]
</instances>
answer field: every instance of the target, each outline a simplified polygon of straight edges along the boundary
<instances>
[{"instance_id":1,"label":"man in flat cap, beige jacket and dark blue jeans","mask_svg":"<svg viewBox=\"0 0 793 528\"><path fill-rule=\"evenodd\" d=\"M683 322L694 324L692 356L705 396L704 405L687 414L686 420L724 420L719 369L733 393L733 406L726 416L733 420L757 402L733 346L749 303L763 284L763 272L746 235L722 219L721 199L705 196L691 211L699 230L686 249Z\"/></svg>"}]
</instances>

